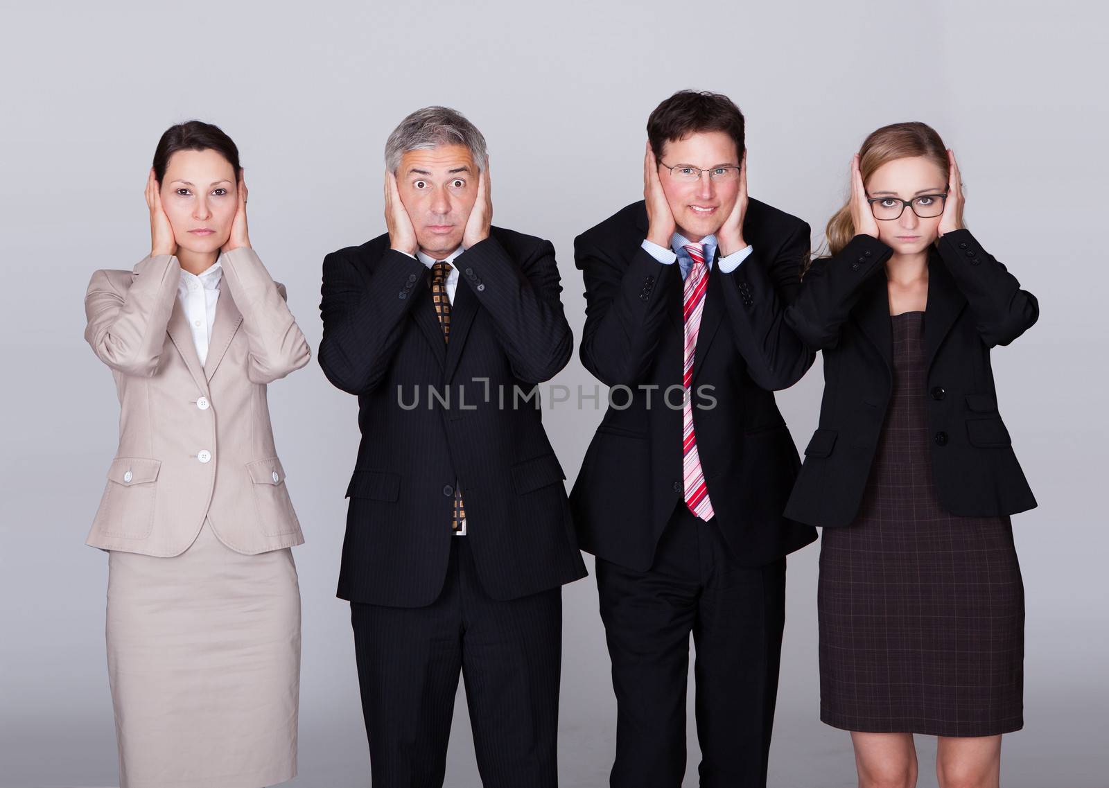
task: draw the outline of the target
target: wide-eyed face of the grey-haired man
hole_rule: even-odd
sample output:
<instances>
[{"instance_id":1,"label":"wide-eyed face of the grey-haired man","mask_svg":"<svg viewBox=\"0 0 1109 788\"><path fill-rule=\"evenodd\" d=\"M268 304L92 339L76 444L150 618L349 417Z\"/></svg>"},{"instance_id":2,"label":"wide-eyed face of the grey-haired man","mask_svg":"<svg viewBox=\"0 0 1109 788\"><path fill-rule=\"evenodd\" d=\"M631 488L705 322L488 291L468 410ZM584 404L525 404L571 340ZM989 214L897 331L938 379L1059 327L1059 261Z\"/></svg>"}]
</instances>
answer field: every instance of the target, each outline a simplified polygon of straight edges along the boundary
<instances>
[{"instance_id":1,"label":"wide-eyed face of the grey-haired man","mask_svg":"<svg viewBox=\"0 0 1109 788\"><path fill-rule=\"evenodd\" d=\"M461 245L478 196L478 168L469 147L408 151L397 168L397 190L424 254L441 258Z\"/></svg>"}]
</instances>

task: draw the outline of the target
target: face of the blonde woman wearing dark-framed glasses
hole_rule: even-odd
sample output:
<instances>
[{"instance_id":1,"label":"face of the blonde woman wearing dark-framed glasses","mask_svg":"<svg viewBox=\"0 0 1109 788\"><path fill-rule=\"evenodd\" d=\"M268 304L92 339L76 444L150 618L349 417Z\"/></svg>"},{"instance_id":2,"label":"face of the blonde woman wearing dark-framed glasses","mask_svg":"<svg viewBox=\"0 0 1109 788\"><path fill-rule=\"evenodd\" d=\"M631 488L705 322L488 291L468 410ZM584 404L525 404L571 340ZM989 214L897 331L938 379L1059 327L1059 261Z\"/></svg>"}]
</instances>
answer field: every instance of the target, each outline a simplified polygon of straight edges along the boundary
<instances>
[{"instance_id":1,"label":"face of the blonde woman wearing dark-framed glasses","mask_svg":"<svg viewBox=\"0 0 1109 788\"><path fill-rule=\"evenodd\" d=\"M915 199L930 194L943 194L947 185L947 173L924 156L907 156L886 162L867 178L865 187L868 197L901 197ZM922 201L924 202L924 201ZM939 209L938 201L927 201L918 206L922 213L929 208ZM924 252L938 235L939 216L920 218L912 206L905 206L901 218L878 222L878 239L897 254L908 255Z\"/></svg>"}]
</instances>

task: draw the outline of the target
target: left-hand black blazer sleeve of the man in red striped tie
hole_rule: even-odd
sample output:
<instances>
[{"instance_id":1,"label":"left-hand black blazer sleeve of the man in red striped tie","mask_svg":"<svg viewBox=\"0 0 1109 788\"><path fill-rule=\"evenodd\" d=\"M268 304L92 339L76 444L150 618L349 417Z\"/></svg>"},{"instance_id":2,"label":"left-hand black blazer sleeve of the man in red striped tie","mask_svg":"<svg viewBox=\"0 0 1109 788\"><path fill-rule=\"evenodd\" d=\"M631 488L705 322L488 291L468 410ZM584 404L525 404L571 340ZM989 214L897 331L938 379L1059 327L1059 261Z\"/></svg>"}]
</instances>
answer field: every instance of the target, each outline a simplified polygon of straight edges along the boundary
<instances>
[{"instance_id":1,"label":"left-hand black blazer sleeve of the man in red striped tie","mask_svg":"<svg viewBox=\"0 0 1109 788\"><path fill-rule=\"evenodd\" d=\"M654 361L678 264L659 263L637 246L625 265L584 236L574 239L573 257L586 282L581 364L606 386L637 386Z\"/></svg>"}]
</instances>

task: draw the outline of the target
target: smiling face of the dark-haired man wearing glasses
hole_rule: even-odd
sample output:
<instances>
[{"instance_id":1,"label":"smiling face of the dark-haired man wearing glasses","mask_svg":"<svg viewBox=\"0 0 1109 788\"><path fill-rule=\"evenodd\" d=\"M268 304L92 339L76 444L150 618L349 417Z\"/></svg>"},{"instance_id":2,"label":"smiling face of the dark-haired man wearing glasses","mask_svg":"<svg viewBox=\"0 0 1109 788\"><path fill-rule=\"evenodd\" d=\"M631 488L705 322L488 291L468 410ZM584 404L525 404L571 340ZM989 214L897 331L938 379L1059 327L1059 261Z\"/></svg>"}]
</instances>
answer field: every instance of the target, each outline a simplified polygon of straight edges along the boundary
<instances>
[{"instance_id":1,"label":"smiling face of the dark-haired man wearing glasses","mask_svg":"<svg viewBox=\"0 0 1109 788\"><path fill-rule=\"evenodd\" d=\"M698 132L684 140L668 140L659 162L671 167L692 164L701 170L724 164L739 166L740 152L735 150L735 141L724 132ZM706 172L701 173L701 180L688 183L674 180L670 170L660 166L659 180L678 232L693 242L720 229L740 193L739 178L710 181Z\"/></svg>"}]
</instances>

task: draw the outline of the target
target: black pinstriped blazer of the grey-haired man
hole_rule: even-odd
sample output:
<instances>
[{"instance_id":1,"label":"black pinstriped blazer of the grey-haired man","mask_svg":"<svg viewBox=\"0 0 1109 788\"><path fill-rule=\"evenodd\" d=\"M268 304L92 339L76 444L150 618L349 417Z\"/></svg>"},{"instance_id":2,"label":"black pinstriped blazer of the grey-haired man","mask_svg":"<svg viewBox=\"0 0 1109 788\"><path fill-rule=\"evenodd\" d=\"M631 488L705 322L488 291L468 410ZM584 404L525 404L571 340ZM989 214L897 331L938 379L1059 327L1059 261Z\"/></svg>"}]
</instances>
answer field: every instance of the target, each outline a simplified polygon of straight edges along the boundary
<instances>
[{"instance_id":1,"label":"black pinstriped blazer of the grey-haired man","mask_svg":"<svg viewBox=\"0 0 1109 788\"><path fill-rule=\"evenodd\" d=\"M452 539L469 540L495 598L586 574L566 474L538 397L523 399L573 349L554 248L494 227L455 263L460 275L448 344L428 269L391 250L387 235L324 259L319 365L335 386L358 396L363 436L347 488L338 584L345 600L431 603ZM456 480L466 536L450 531Z\"/></svg>"}]
</instances>

